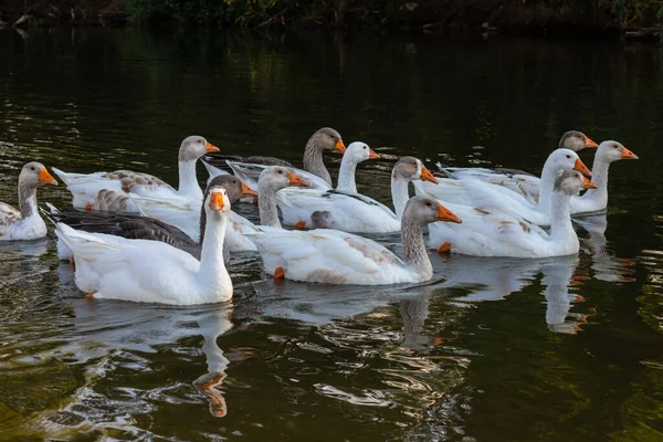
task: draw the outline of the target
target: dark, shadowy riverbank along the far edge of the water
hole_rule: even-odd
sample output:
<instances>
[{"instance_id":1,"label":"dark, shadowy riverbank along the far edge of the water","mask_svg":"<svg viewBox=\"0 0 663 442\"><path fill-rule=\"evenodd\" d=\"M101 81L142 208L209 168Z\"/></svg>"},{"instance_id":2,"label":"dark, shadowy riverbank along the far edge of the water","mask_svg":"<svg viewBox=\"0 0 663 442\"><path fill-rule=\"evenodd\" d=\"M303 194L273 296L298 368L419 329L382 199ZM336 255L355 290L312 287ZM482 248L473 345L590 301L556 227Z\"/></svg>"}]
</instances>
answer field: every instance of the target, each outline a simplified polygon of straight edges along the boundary
<instances>
[{"instance_id":1,"label":"dark, shadowy riverbank along the far edge of the water","mask_svg":"<svg viewBox=\"0 0 663 442\"><path fill-rule=\"evenodd\" d=\"M550 4L554 3L554 4ZM663 41L663 4L641 0L0 0L7 25L352 28Z\"/></svg>"}]
</instances>

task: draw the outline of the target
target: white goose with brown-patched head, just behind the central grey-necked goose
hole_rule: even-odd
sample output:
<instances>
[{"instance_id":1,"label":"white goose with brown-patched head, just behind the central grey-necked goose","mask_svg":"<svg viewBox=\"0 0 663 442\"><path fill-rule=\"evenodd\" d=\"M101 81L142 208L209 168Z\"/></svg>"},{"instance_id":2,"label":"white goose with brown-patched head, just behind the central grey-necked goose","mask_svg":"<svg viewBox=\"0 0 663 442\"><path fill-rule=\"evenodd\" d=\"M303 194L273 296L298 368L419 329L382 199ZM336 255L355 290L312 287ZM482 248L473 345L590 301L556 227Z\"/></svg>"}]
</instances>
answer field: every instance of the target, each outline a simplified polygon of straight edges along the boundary
<instances>
[{"instance_id":1,"label":"white goose with brown-patched head, just behind the central grey-necked goose","mask_svg":"<svg viewBox=\"0 0 663 442\"><path fill-rule=\"evenodd\" d=\"M337 230L354 233L389 233L400 230L400 219L408 202L408 183L436 179L414 157L402 157L391 171L391 198L396 213L372 198L356 192L319 189L284 189L277 193L283 222L299 229L314 227L316 212L328 212L325 222Z\"/></svg>"}]
</instances>

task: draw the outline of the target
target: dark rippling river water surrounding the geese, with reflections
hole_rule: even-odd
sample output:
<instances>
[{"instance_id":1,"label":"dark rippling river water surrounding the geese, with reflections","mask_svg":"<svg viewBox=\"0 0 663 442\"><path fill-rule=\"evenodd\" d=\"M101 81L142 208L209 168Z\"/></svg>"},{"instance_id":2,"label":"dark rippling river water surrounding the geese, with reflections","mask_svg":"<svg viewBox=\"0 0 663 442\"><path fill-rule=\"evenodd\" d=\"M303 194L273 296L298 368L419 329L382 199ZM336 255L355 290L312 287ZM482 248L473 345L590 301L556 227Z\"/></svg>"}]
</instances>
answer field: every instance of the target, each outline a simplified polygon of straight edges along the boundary
<instances>
[{"instance_id":1,"label":"dark rippling river water surrounding the geese, with reflections","mask_svg":"<svg viewBox=\"0 0 663 442\"><path fill-rule=\"evenodd\" d=\"M400 155L537 172L575 128L641 158L612 166L608 214L578 224L579 256L432 256L433 281L406 288L275 285L244 254L227 305L95 302L52 234L0 244L0 439L661 440L659 49L4 30L0 60L10 203L29 159L175 182L193 134L299 164L308 136L332 126L383 157L360 166L358 185L385 202ZM592 151L580 156L591 165ZM333 175L339 160L327 156Z\"/></svg>"}]
</instances>

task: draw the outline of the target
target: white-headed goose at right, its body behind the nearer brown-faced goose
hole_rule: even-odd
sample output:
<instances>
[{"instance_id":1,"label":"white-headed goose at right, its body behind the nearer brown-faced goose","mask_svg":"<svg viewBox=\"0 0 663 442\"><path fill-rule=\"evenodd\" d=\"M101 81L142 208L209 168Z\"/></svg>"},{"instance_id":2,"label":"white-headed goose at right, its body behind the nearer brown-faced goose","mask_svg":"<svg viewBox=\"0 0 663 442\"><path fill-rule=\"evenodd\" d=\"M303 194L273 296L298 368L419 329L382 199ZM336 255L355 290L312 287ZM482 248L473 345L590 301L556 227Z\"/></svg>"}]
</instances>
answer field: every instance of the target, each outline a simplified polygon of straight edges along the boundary
<instances>
[{"instance_id":1,"label":"white-headed goose at right, its body behind the nearer brown-faced goose","mask_svg":"<svg viewBox=\"0 0 663 442\"><path fill-rule=\"evenodd\" d=\"M544 165L540 181L540 197L536 204L523 196L502 186L495 186L478 180L453 180L443 178L436 186L415 181L417 194L433 196L444 203L456 203L472 207L492 207L504 212L522 217L537 225L550 225L550 198L555 179L561 170L579 170L587 177L591 172L572 150L557 149L548 156Z\"/></svg>"}]
</instances>

